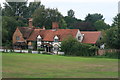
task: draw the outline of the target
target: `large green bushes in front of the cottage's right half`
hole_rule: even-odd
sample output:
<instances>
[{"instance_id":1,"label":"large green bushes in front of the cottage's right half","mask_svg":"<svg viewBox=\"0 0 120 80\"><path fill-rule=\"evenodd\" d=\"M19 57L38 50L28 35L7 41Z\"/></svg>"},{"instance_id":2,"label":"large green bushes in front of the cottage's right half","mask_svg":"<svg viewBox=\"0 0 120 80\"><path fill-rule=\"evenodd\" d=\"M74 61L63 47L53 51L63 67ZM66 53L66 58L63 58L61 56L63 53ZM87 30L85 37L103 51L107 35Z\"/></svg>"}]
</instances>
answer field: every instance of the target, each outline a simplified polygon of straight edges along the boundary
<instances>
[{"instance_id":1,"label":"large green bushes in front of the cottage's right half","mask_svg":"<svg viewBox=\"0 0 120 80\"><path fill-rule=\"evenodd\" d=\"M61 50L65 52L65 55L94 56L97 47L90 44L80 43L70 36L62 41Z\"/></svg>"}]
</instances>

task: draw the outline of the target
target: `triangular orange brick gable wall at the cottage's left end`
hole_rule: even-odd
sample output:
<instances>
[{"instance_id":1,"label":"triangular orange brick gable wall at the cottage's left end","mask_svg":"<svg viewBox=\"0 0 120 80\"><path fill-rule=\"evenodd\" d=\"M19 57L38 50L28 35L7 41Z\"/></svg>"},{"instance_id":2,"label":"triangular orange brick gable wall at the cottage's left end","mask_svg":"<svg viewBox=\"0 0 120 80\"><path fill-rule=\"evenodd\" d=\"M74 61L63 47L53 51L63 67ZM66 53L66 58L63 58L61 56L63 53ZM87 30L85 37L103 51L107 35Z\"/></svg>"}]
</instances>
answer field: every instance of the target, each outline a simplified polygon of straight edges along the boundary
<instances>
[{"instance_id":1,"label":"triangular orange brick gable wall at the cottage's left end","mask_svg":"<svg viewBox=\"0 0 120 80\"><path fill-rule=\"evenodd\" d=\"M16 40L16 37L19 36L19 40ZM22 33L20 32L20 30L17 28L13 34L13 44L17 41L23 41L26 42L26 40L23 38Z\"/></svg>"}]
</instances>

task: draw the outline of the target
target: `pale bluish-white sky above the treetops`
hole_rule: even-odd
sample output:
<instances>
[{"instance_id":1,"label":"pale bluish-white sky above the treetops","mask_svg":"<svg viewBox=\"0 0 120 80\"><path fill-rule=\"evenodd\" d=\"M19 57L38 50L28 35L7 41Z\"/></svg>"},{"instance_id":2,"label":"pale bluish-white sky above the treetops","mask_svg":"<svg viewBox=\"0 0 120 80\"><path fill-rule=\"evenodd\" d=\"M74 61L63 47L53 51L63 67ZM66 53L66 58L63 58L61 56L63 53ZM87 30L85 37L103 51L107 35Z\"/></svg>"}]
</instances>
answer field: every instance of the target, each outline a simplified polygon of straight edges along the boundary
<instances>
[{"instance_id":1,"label":"pale bluish-white sky above the treetops","mask_svg":"<svg viewBox=\"0 0 120 80\"><path fill-rule=\"evenodd\" d=\"M0 2L4 2L4 0L0 0ZM105 18L105 22L110 25L113 17L118 13L118 2L119 0L41 0L46 8L58 8L63 16L66 16L70 9L75 11L76 18L82 20L88 13L100 13Z\"/></svg>"}]
</instances>

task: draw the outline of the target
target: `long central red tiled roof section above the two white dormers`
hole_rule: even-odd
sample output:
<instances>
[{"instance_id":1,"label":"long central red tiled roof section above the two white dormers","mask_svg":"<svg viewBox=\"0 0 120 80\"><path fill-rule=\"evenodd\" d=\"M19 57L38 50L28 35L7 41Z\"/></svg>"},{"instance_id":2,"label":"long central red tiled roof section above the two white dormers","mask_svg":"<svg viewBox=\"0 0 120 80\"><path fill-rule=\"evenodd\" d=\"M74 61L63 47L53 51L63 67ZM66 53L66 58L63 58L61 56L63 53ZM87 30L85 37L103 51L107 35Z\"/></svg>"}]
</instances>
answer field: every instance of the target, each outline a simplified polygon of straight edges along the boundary
<instances>
[{"instance_id":1,"label":"long central red tiled roof section above the two white dormers","mask_svg":"<svg viewBox=\"0 0 120 80\"><path fill-rule=\"evenodd\" d=\"M40 30L35 29L31 36L28 38L30 41L35 41L36 37L40 35L43 41L54 41L54 36L59 37L59 41L62 41L68 35L76 36L78 29L57 29L57 30Z\"/></svg>"}]
</instances>

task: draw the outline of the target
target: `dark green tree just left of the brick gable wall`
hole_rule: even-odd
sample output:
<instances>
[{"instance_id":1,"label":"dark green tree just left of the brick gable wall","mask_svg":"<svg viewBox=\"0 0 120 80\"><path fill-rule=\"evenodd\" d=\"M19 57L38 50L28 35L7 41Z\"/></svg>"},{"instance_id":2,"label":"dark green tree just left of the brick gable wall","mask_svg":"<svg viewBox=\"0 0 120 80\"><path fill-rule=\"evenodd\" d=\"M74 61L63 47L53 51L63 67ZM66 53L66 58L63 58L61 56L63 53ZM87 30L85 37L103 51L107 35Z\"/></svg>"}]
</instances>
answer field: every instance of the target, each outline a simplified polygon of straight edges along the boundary
<instances>
[{"instance_id":1,"label":"dark green tree just left of the brick gable wall","mask_svg":"<svg viewBox=\"0 0 120 80\"><path fill-rule=\"evenodd\" d=\"M12 43L12 35L18 25L17 21L13 17L3 16L2 18L2 43Z\"/></svg>"}]
</instances>

